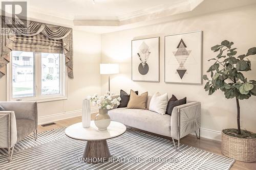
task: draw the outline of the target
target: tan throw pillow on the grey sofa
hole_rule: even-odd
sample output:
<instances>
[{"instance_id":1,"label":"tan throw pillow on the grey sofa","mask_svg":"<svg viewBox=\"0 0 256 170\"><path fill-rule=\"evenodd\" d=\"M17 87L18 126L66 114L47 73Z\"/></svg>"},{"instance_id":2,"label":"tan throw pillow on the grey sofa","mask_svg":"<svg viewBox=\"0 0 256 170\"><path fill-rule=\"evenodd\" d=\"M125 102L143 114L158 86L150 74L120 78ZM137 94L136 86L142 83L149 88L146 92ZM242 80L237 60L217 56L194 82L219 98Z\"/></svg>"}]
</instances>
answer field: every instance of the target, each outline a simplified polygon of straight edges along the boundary
<instances>
[{"instance_id":1,"label":"tan throw pillow on the grey sofa","mask_svg":"<svg viewBox=\"0 0 256 170\"><path fill-rule=\"evenodd\" d=\"M137 95L133 90L130 92L130 100L127 104L129 109L146 109L147 92Z\"/></svg>"}]
</instances>

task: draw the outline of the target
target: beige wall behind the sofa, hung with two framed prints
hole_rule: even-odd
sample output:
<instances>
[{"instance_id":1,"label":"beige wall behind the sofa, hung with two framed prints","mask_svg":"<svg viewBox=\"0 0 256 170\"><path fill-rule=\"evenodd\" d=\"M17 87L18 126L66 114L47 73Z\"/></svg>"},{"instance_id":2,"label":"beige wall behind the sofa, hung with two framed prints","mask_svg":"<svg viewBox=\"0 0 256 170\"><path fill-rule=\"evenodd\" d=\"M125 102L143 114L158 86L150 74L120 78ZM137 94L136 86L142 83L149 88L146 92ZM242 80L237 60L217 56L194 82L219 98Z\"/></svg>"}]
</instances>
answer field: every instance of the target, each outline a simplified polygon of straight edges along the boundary
<instances>
[{"instance_id":1,"label":"beige wall behind the sofa, hung with two framed prints","mask_svg":"<svg viewBox=\"0 0 256 170\"><path fill-rule=\"evenodd\" d=\"M203 85L167 84L164 83L164 36L170 34L203 31L203 72L205 73L211 62L207 60L216 54L210 47L222 40L234 42L238 54L246 53L249 47L256 46L256 6L242 7L204 16L187 17L186 19L166 22L158 25L141 27L131 30L103 34L101 36L101 62L119 63L120 74L112 76L111 90L119 92L120 89L139 90L140 93L148 91L154 94L168 92L181 99L185 96L189 101L202 103L202 128L209 129L209 133L216 134L224 128L236 128L236 101L225 99L223 92L218 91L208 96ZM131 40L160 36L160 83L131 81ZM248 80L256 79L256 56L249 57L252 71L246 72ZM107 77L101 77L102 92L107 87ZM256 132L256 97L241 101L242 128ZM207 132L207 130L205 130ZM218 134L218 133L217 133ZM205 134L206 135L206 134ZM209 137L211 138L211 137ZM215 137L212 137L215 138ZM220 135L217 137L220 139Z\"/></svg>"}]
</instances>

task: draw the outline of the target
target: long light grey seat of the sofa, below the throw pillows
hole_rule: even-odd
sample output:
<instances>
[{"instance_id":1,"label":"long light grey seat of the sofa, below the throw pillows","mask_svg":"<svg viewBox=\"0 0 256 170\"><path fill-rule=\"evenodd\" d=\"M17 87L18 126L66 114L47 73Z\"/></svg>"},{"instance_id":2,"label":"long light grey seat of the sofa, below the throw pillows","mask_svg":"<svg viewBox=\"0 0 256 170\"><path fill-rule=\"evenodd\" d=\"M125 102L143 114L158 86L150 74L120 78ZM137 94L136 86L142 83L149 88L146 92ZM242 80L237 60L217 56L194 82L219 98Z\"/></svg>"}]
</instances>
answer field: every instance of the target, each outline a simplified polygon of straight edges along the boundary
<instances>
[{"instance_id":1,"label":"long light grey seat of the sofa, below the throw pillows","mask_svg":"<svg viewBox=\"0 0 256 170\"><path fill-rule=\"evenodd\" d=\"M170 115L149 110L117 108L108 112L111 120L144 131L170 137Z\"/></svg>"}]
</instances>

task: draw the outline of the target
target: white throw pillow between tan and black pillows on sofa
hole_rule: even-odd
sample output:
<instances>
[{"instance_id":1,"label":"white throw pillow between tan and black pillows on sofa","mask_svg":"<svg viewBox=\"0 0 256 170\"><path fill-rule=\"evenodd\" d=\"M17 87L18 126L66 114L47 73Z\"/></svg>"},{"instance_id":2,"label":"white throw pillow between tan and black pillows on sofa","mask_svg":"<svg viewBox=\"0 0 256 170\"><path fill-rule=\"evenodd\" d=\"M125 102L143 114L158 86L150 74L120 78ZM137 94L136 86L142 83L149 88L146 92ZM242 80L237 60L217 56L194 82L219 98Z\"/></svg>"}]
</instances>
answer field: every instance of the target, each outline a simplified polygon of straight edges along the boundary
<instances>
[{"instance_id":1,"label":"white throw pillow between tan and black pillows on sofa","mask_svg":"<svg viewBox=\"0 0 256 170\"><path fill-rule=\"evenodd\" d=\"M160 94L156 92L150 101L150 111L157 112L159 114L165 114L168 104L168 94Z\"/></svg>"}]
</instances>

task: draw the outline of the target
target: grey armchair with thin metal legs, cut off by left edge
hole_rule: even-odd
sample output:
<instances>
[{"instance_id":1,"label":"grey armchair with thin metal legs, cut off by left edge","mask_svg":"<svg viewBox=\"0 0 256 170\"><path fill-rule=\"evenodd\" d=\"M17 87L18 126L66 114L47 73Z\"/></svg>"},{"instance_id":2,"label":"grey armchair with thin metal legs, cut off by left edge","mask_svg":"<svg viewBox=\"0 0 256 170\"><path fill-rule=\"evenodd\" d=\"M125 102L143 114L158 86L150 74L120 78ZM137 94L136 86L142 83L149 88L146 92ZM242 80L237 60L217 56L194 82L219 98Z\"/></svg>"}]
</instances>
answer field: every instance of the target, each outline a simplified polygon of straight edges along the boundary
<instances>
[{"instance_id":1,"label":"grey armchair with thin metal legs, cut off by left edge","mask_svg":"<svg viewBox=\"0 0 256 170\"><path fill-rule=\"evenodd\" d=\"M34 133L37 138L36 102L0 102L0 148L8 148L8 160L12 160L15 144Z\"/></svg>"}]
</instances>

